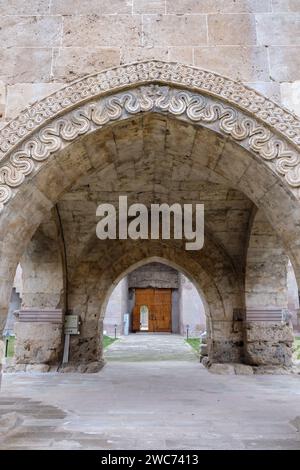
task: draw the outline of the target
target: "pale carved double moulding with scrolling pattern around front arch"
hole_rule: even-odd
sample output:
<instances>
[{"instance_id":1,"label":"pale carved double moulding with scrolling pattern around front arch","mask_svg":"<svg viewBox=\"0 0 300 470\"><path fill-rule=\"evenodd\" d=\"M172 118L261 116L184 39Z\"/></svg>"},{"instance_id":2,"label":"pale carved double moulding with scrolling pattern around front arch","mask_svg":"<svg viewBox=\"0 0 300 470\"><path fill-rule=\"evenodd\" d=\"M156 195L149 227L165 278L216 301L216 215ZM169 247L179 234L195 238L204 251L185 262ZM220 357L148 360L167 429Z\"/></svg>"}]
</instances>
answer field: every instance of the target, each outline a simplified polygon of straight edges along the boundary
<instances>
[{"instance_id":1,"label":"pale carved double moulding with scrolling pattern around front arch","mask_svg":"<svg viewBox=\"0 0 300 470\"><path fill-rule=\"evenodd\" d=\"M151 61L74 82L4 127L0 131L0 210L12 189L65 143L111 121L150 111L184 116L201 125L217 124L235 141L246 140L288 185L300 186L299 119L217 74Z\"/></svg>"}]
</instances>

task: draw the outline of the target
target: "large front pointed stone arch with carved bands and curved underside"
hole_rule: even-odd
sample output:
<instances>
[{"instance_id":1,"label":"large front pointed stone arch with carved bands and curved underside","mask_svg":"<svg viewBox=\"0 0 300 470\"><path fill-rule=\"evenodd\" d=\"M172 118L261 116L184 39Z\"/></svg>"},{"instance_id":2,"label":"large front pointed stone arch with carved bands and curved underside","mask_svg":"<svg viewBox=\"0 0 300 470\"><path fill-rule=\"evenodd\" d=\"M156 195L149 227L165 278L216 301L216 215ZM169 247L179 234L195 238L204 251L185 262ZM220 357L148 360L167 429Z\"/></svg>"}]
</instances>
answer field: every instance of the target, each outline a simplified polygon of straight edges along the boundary
<instances>
[{"instance_id":1,"label":"large front pointed stone arch with carved bands and curved underside","mask_svg":"<svg viewBox=\"0 0 300 470\"><path fill-rule=\"evenodd\" d=\"M17 262L45 215L79 177L109 163L107 130L149 114L180 123L203 167L265 211L299 275L299 120L213 73L144 62L75 82L0 131L2 325ZM96 135L98 152L88 154Z\"/></svg>"}]
</instances>

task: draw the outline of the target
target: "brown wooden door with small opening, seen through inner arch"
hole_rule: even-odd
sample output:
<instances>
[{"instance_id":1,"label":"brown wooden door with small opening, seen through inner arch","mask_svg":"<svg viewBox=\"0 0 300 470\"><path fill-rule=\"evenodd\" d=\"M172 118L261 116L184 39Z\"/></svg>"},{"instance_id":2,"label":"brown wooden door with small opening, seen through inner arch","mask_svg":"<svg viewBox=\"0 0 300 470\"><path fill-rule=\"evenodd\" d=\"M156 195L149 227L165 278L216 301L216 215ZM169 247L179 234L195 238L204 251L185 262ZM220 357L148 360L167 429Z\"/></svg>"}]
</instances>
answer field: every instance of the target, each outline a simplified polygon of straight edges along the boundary
<instances>
[{"instance_id":1,"label":"brown wooden door with small opening, seen through inner arch","mask_svg":"<svg viewBox=\"0 0 300 470\"><path fill-rule=\"evenodd\" d=\"M148 311L149 332L171 332L172 291L171 289L136 289L133 309L133 331L141 331L141 307ZM144 330L145 331L145 330Z\"/></svg>"}]
</instances>

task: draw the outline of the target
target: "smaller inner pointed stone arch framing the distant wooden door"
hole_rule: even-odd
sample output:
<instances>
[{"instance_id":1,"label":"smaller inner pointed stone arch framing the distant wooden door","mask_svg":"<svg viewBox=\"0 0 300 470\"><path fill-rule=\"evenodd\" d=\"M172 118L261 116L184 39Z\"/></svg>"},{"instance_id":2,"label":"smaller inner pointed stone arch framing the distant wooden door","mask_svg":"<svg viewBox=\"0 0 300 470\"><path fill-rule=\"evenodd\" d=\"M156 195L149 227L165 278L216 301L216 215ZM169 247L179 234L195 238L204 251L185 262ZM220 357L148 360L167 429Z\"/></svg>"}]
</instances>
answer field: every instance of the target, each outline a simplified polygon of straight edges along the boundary
<instances>
[{"instance_id":1,"label":"smaller inner pointed stone arch framing the distant wooden door","mask_svg":"<svg viewBox=\"0 0 300 470\"><path fill-rule=\"evenodd\" d=\"M103 259L99 243L79 260L70 279L69 307L81 315L80 337L73 337L70 361L82 370L88 364L102 361L101 342L103 319L108 298L114 286L130 271L149 260L161 260L183 272L194 285L207 307L208 349L211 362L239 362L242 360L242 322L234 319L234 311L241 307L239 282L226 256L211 246L215 262L209 262L208 253L191 255L182 243L163 241L116 241L105 244L108 252ZM224 276L223 283L221 278ZM80 285L80 295L78 286ZM93 365L94 367L94 365Z\"/></svg>"}]
</instances>

